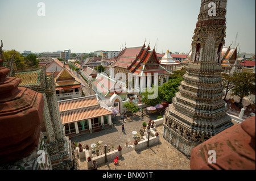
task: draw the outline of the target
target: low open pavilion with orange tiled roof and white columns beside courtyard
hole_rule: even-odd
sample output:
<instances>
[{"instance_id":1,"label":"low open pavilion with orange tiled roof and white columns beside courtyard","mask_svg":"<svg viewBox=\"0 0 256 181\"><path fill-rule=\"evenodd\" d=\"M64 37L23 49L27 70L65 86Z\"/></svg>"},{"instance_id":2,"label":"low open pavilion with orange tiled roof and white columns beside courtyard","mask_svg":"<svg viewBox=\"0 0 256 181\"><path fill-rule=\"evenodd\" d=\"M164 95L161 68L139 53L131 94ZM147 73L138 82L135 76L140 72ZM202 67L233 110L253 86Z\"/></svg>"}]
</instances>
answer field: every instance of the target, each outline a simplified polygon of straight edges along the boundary
<instances>
[{"instance_id":1,"label":"low open pavilion with orange tiled roof and white columns beside courtyard","mask_svg":"<svg viewBox=\"0 0 256 181\"><path fill-rule=\"evenodd\" d=\"M111 114L105 103L98 101L98 96L58 101L60 117L65 127L65 134L92 132L104 125L112 125Z\"/></svg>"}]
</instances>

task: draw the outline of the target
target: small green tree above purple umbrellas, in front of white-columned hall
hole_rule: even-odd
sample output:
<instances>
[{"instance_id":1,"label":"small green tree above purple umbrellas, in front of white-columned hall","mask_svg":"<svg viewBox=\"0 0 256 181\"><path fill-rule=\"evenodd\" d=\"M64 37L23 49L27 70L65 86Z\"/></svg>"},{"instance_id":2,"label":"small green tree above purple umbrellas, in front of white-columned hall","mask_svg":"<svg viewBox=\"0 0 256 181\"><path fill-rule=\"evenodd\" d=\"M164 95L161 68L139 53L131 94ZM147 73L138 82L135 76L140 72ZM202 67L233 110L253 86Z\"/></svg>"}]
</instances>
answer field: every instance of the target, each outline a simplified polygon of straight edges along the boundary
<instances>
[{"instance_id":1,"label":"small green tree above purple umbrellas, in front of white-columned hall","mask_svg":"<svg viewBox=\"0 0 256 181\"><path fill-rule=\"evenodd\" d=\"M162 99L159 97L159 87L153 86L152 89L154 90L153 92L148 92L147 89L144 89L144 92L141 94L142 102L148 106L155 106L156 104L160 104L162 102ZM154 96L155 94L158 94L156 98ZM153 98L151 98L151 96L153 96Z\"/></svg>"}]
</instances>

